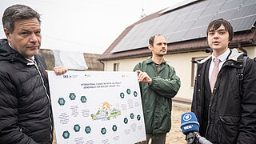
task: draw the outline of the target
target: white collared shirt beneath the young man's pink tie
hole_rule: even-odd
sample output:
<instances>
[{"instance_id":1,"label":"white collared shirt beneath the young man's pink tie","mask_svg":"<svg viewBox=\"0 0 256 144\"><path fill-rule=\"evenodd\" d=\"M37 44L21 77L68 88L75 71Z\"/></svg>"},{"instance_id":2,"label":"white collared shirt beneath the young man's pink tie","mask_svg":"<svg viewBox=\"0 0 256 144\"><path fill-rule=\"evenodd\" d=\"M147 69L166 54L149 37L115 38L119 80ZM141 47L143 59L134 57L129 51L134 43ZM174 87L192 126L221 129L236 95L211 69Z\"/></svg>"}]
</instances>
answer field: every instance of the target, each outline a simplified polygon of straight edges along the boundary
<instances>
[{"instance_id":1,"label":"white collared shirt beneath the young man's pink tie","mask_svg":"<svg viewBox=\"0 0 256 144\"><path fill-rule=\"evenodd\" d=\"M227 49L225 53L217 57L219 60L221 60L221 62L218 64L218 70L222 69L222 66L226 61L226 58L229 56L229 54L230 54L230 49ZM216 58L214 54L211 54L211 61L210 61L210 68L209 68L209 82L210 82L211 74L213 73L213 70L214 70L214 58Z\"/></svg>"}]
</instances>

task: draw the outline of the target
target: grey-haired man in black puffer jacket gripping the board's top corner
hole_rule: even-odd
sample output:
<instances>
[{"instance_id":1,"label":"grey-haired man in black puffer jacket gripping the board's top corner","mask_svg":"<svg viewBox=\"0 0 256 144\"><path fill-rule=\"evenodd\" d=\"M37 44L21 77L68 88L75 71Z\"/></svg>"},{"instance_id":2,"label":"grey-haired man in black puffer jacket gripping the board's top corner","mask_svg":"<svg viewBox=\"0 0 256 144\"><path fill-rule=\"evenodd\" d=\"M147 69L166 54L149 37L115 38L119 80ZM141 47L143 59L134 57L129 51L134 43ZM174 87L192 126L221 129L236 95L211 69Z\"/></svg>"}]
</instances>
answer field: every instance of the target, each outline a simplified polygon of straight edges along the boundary
<instances>
[{"instance_id":1,"label":"grey-haired man in black puffer jacket gripping the board's top corner","mask_svg":"<svg viewBox=\"0 0 256 144\"><path fill-rule=\"evenodd\" d=\"M0 40L0 143L51 144L53 121L40 15L28 6L8 7ZM66 73L63 66L55 74Z\"/></svg>"}]
</instances>

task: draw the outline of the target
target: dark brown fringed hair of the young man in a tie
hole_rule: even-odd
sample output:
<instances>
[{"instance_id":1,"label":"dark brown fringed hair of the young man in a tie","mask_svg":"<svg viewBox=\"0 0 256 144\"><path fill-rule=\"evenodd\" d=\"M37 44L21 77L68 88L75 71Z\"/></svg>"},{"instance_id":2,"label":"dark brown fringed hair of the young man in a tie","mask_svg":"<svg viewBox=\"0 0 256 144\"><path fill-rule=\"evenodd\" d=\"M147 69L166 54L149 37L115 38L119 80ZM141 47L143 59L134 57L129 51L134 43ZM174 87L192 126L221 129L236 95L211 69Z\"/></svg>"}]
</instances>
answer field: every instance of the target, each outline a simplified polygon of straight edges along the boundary
<instances>
[{"instance_id":1,"label":"dark brown fringed hair of the young man in a tie","mask_svg":"<svg viewBox=\"0 0 256 144\"><path fill-rule=\"evenodd\" d=\"M218 28L222 25L229 32L229 41L231 42L234 36L233 27L231 26L230 22L226 21L223 18L215 19L214 21L210 22L206 30L207 38L210 30L218 30Z\"/></svg>"}]
</instances>

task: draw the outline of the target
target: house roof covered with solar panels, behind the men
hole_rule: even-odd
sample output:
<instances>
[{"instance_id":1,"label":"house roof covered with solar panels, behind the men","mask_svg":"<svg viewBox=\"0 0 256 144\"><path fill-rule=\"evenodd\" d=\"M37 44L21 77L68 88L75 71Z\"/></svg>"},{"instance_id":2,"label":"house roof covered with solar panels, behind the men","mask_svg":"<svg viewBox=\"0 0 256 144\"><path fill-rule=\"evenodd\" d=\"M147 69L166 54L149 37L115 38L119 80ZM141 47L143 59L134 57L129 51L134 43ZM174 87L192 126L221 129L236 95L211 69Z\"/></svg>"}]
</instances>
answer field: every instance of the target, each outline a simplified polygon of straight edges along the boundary
<instances>
[{"instance_id":1,"label":"house roof covered with solar panels, behind the men","mask_svg":"<svg viewBox=\"0 0 256 144\"><path fill-rule=\"evenodd\" d=\"M256 1L190 0L128 26L99 60L148 56L151 54L147 48L148 39L154 34L166 36L168 54L205 50L208 47L206 28L217 18L228 20L234 28L230 47L255 45Z\"/></svg>"}]
</instances>

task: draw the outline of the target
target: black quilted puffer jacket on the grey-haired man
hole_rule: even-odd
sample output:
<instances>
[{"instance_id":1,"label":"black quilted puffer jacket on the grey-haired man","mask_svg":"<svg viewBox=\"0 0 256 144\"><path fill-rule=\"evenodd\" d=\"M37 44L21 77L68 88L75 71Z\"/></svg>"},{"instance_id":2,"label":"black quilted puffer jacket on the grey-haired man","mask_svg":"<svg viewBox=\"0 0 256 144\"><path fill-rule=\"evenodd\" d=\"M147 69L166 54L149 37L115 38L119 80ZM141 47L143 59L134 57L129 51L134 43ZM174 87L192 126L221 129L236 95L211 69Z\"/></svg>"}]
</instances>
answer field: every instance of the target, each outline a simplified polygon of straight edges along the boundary
<instances>
[{"instance_id":1,"label":"black quilted puffer jacket on the grey-haired man","mask_svg":"<svg viewBox=\"0 0 256 144\"><path fill-rule=\"evenodd\" d=\"M52 114L46 62L36 65L0 40L0 143L52 142Z\"/></svg>"}]
</instances>

